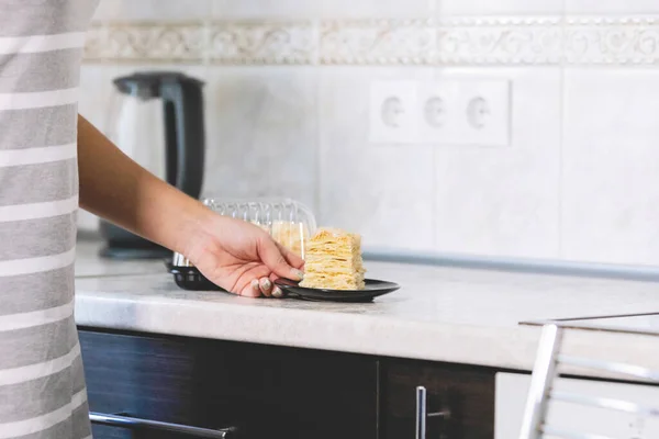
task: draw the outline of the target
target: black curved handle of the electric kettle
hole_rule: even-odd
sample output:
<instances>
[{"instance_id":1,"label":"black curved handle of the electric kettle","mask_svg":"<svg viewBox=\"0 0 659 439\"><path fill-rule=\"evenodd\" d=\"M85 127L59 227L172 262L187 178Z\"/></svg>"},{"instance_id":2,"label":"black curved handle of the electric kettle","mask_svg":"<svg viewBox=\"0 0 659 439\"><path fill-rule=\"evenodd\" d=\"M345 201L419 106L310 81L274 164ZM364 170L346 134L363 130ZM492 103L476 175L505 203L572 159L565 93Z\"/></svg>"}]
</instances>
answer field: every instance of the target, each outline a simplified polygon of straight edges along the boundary
<instances>
[{"instance_id":1,"label":"black curved handle of the electric kettle","mask_svg":"<svg viewBox=\"0 0 659 439\"><path fill-rule=\"evenodd\" d=\"M197 80L168 80L160 86L166 180L194 199L201 193L205 149L201 86Z\"/></svg>"}]
</instances>

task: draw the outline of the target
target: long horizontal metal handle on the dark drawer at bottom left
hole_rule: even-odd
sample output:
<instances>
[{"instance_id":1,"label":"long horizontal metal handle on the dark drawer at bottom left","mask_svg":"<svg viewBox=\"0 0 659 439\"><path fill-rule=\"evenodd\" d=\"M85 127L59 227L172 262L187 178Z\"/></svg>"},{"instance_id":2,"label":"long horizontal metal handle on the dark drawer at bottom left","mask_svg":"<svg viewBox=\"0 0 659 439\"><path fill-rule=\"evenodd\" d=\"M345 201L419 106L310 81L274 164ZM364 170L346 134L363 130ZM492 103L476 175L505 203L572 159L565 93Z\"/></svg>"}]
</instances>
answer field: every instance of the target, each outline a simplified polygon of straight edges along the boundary
<instances>
[{"instance_id":1,"label":"long horizontal metal handle on the dark drawer at bottom left","mask_svg":"<svg viewBox=\"0 0 659 439\"><path fill-rule=\"evenodd\" d=\"M107 425L112 427L171 431L181 435L196 436L198 438L226 439L231 436L232 432L236 432L236 428L234 427L213 430L210 428L192 427L181 424L169 424L159 420L141 419L125 415L108 415L96 412L89 413L89 419L93 424Z\"/></svg>"}]
</instances>

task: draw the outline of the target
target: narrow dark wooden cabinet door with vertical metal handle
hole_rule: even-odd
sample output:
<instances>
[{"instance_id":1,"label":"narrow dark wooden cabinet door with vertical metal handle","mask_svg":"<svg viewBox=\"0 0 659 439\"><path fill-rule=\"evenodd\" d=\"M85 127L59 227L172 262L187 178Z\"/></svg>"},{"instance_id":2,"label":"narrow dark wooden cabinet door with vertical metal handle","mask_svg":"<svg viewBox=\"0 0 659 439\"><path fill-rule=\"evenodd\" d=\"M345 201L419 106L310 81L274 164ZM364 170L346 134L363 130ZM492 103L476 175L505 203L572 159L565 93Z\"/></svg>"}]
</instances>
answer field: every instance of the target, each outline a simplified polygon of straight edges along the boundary
<instances>
[{"instance_id":1,"label":"narrow dark wooden cabinet door with vertical metal handle","mask_svg":"<svg viewBox=\"0 0 659 439\"><path fill-rule=\"evenodd\" d=\"M412 361L382 369L384 438L415 438L417 386L426 390L427 439L494 437L494 371Z\"/></svg>"}]
</instances>

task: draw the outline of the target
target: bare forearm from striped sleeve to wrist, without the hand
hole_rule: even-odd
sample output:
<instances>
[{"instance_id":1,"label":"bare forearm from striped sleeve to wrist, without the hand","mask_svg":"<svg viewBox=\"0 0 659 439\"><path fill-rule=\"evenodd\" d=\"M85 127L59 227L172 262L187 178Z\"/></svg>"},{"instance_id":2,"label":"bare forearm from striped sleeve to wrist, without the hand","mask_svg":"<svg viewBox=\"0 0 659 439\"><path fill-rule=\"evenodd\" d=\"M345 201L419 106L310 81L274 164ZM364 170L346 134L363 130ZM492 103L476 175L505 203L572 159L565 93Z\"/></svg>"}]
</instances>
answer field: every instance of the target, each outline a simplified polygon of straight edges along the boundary
<instances>
[{"instance_id":1,"label":"bare forearm from striped sleeve to wrist, without the hand","mask_svg":"<svg viewBox=\"0 0 659 439\"><path fill-rule=\"evenodd\" d=\"M187 251L208 215L199 201L134 162L82 116L78 167L80 207L175 251Z\"/></svg>"}]
</instances>

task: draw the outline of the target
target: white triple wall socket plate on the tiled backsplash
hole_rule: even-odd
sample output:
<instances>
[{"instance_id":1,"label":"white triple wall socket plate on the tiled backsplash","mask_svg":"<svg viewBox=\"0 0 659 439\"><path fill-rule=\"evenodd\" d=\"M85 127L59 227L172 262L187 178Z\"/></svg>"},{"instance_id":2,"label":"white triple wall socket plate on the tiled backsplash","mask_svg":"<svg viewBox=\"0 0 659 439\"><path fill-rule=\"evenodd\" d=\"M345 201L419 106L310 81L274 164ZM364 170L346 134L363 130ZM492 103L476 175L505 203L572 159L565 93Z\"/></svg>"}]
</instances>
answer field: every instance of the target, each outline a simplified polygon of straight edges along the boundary
<instances>
[{"instance_id":1,"label":"white triple wall socket plate on the tiled backsplash","mask_svg":"<svg viewBox=\"0 0 659 439\"><path fill-rule=\"evenodd\" d=\"M507 79L446 78L375 81L370 89L370 142L507 146Z\"/></svg>"}]
</instances>

